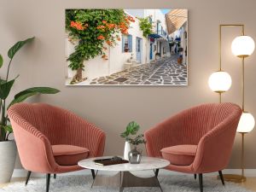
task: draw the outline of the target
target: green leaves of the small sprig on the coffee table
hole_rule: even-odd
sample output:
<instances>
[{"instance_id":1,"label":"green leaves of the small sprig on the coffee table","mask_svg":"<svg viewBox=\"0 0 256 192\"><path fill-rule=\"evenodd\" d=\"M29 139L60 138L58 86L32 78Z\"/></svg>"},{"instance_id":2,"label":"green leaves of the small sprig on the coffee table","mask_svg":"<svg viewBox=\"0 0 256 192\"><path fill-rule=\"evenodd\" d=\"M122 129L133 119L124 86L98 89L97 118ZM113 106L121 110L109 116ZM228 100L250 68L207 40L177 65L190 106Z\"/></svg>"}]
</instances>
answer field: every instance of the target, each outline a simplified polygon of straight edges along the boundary
<instances>
[{"instance_id":1,"label":"green leaves of the small sprig on the coffee table","mask_svg":"<svg viewBox=\"0 0 256 192\"><path fill-rule=\"evenodd\" d=\"M144 140L144 135L139 134L137 137L130 137L130 135L135 136L137 134L137 131L139 131L140 125L138 125L135 121L131 121L127 126L124 132L120 134L120 137L125 138L125 141L133 144L133 145L138 145L142 143L146 143Z\"/></svg>"}]
</instances>

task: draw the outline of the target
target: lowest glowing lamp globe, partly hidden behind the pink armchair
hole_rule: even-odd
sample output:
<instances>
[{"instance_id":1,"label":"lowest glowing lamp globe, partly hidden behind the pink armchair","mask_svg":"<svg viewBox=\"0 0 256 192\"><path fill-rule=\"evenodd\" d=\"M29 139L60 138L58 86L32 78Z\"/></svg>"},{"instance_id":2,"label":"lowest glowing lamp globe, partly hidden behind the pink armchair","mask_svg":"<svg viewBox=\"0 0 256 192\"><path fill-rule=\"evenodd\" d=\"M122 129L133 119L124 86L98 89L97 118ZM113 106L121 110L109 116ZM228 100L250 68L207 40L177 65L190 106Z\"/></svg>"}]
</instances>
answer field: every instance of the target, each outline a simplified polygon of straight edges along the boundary
<instances>
[{"instance_id":1,"label":"lowest glowing lamp globe, partly hidden behind the pink armchair","mask_svg":"<svg viewBox=\"0 0 256 192\"><path fill-rule=\"evenodd\" d=\"M255 120L253 118L253 114L248 112L242 112L236 131L247 133L253 130L254 125L255 125Z\"/></svg>"}]
</instances>

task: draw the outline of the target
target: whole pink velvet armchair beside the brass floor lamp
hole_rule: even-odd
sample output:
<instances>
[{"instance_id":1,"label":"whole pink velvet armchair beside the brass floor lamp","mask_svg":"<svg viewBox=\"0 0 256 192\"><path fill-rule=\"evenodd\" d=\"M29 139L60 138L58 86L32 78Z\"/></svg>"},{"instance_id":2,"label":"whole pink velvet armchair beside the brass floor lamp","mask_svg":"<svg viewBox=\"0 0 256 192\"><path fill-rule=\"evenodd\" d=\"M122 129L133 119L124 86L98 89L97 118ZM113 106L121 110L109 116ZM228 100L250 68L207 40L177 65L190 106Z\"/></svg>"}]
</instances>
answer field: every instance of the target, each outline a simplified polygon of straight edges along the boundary
<instances>
[{"instance_id":1,"label":"whole pink velvet armchair beside the brass floor lamp","mask_svg":"<svg viewBox=\"0 0 256 192\"><path fill-rule=\"evenodd\" d=\"M145 132L148 156L170 160L167 170L199 175L228 165L241 108L233 103L203 104L177 113ZM156 174L158 173L158 170Z\"/></svg>"}]
</instances>

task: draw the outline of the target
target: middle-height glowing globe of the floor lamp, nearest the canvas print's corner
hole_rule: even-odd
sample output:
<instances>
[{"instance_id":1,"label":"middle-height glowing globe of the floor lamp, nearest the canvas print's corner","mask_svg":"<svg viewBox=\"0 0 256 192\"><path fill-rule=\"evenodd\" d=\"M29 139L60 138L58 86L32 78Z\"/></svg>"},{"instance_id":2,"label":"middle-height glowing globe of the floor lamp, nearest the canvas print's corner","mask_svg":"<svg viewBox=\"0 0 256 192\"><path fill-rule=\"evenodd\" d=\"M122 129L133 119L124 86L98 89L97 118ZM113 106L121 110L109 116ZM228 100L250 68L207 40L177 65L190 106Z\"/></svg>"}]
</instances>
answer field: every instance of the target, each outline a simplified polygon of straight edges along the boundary
<instances>
[{"instance_id":1,"label":"middle-height glowing globe of the floor lamp, nearest the canvas print's corner","mask_svg":"<svg viewBox=\"0 0 256 192\"><path fill-rule=\"evenodd\" d=\"M222 93L230 90L232 79L229 73L218 71L211 74L208 84L212 91Z\"/></svg>"}]
</instances>

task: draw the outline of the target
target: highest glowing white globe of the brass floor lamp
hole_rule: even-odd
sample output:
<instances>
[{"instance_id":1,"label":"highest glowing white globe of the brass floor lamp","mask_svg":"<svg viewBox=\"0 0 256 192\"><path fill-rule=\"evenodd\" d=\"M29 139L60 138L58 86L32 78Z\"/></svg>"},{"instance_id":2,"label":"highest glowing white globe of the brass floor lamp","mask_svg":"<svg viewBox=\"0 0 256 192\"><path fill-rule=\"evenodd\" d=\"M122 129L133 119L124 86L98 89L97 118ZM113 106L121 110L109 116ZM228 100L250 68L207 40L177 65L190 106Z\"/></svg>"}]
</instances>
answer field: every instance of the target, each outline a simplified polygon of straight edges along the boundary
<instances>
[{"instance_id":1,"label":"highest glowing white globe of the brass floor lamp","mask_svg":"<svg viewBox=\"0 0 256 192\"><path fill-rule=\"evenodd\" d=\"M245 35L236 37L231 44L232 53L238 57L252 55L254 49L255 44L253 38Z\"/></svg>"}]
</instances>

